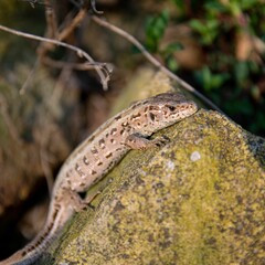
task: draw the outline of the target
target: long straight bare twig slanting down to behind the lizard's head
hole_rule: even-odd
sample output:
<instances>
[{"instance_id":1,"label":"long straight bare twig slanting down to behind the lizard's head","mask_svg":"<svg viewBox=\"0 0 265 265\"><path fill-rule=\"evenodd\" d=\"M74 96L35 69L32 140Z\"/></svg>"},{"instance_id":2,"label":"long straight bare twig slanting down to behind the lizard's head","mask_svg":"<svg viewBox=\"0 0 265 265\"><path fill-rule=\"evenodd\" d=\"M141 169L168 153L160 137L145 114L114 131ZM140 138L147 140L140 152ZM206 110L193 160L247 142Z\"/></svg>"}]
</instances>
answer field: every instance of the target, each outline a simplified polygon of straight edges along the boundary
<instances>
[{"instance_id":1,"label":"long straight bare twig slanting down to behind the lizard's head","mask_svg":"<svg viewBox=\"0 0 265 265\"><path fill-rule=\"evenodd\" d=\"M130 35L128 32L121 30L120 28L117 28L116 25L107 22L106 20L99 19L96 15L92 15L92 19L99 25L115 32L116 34L125 38L130 43L132 43L136 47L140 50L140 52L145 55L145 57L153 64L156 67L160 68L163 73L166 73L169 77L178 82L183 88L194 94L197 97L202 99L204 103L206 103L209 106L211 106L213 109L224 114L214 103L212 103L209 98L206 98L204 95L202 95L200 92L198 92L195 88L193 88L191 85L189 85L187 82L181 80L178 75L173 74L171 71L169 71L167 67L165 67L157 59L155 59L146 49L145 46L132 35Z\"/></svg>"}]
</instances>

